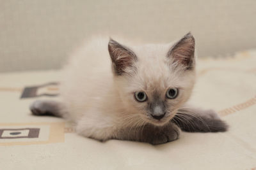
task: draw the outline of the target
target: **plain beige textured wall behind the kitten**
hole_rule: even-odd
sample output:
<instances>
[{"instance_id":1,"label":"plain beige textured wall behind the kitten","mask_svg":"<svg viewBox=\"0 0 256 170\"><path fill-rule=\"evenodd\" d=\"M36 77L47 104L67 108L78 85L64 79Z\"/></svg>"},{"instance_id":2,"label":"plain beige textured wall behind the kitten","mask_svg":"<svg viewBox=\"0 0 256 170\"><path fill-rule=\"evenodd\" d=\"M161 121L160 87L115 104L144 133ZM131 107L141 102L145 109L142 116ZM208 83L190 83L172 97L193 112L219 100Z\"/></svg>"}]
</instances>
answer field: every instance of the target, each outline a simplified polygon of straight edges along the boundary
<instances>
[{"instance_id":1,"label":"plain beige textured wall behind the kitten","mask_svg":"<svg viewBox=\"0 0 256 170\"><path fill-rule=\"evenodd\" d=\"M256 1L0 0L0 71L59 68L82 39L168 42L188 31L200 57L256 47Z\"/></svg>"}]
</instances>

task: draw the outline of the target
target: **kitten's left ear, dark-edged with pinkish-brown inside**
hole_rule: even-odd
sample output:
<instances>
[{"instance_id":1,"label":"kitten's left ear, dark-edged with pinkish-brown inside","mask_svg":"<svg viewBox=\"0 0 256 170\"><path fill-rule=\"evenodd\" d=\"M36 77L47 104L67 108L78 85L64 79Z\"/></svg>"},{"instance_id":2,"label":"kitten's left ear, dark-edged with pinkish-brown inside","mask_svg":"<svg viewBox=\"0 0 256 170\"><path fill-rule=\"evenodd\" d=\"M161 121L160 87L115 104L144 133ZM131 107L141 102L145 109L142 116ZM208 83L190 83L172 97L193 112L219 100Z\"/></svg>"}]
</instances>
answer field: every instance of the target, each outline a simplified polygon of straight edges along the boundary
<instances>
[{"instance_id":1,"label":"kitten's left ear, dark-edged with pinkish-brown inside","mask_svg":"<svg viewBox=\"0 0 256 170\"><path fill-rule=\"evenodd\" d=\"M109 39L108 52L116 75L131 73L136 70L134 63L138 60L135 53L113 39Z\"/></svg>"}]
</instances>

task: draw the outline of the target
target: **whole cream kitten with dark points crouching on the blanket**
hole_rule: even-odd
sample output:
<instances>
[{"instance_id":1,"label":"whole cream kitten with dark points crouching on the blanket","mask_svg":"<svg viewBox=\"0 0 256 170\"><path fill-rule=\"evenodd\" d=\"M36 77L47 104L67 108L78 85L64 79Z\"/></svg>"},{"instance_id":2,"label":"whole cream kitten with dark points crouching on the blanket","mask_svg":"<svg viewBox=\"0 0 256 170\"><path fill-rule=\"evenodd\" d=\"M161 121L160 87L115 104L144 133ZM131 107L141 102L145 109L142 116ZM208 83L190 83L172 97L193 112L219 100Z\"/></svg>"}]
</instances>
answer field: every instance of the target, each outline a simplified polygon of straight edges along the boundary
<instances>
[{"instance_id":1,"label":"whole cream kitten with dark points crouching on the blanket","mask_svg":"<svg viewBox=\"0 0 256 170\"><path fill-rule=\"evenodd\" d=\"M110 58L109 58L110 56ZM52 114L82 136L153 145L189 132L223 132L212 110L186 106L195 84L195 39L189 32L166 45L125 46L95 39L64 67L61 103L35 101L34 115Z\"/></svg>"}]
</instances>

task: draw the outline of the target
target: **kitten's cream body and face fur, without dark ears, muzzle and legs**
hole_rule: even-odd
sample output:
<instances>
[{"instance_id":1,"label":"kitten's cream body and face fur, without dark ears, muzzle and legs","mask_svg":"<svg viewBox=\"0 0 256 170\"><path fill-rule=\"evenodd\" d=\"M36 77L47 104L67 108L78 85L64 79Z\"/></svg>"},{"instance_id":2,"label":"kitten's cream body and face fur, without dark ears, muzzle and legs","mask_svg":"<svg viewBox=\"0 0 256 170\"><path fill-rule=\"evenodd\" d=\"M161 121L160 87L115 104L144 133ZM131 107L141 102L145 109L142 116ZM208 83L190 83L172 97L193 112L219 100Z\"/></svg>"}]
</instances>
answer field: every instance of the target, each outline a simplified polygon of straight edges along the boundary
<instances>
[{"instance_id":1,"label":"kitten's cream body and face fur, without dark ears, muzzle and legs","mask_svg":"<svg viewBox=\"0 0 256 170\"><path fill-rule=\"evenodd\" d=\"M109 38L95 38L79 48L64 67L61 98L64 115L76 123L79 134L100 140L115 138L116 131L125 125L150 122L163 125L184 104L195 83L194 71L173 69L166 53L173 43L166 45L128 46L138 56L138 72L131 76L113 76L108 53ZM162 122L150 120L145 103L134 99L134 92L144 90L148 98L158 90L163 94L170 87L179 87L179 97L168 101L170 113Z\"/></svg>"}]
</instances>

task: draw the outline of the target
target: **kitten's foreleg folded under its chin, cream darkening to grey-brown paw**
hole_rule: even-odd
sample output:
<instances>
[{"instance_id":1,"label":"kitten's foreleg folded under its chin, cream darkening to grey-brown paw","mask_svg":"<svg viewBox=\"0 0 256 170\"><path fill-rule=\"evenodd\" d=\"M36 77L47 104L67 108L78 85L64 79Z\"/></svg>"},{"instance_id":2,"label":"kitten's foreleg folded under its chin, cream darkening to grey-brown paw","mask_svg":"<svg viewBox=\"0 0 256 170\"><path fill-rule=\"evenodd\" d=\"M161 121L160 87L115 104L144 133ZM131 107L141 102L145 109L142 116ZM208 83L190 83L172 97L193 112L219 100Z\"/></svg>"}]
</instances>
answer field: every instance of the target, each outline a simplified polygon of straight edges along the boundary
<instances>
[{"instance_id":1,"label":"kitten's foreleg folded under its chin, cream darkening to grey-brown paw","mask_svg":"<svg viewBox=\"0 0 256 170\"><path fill-rule=\"evenodd\" d=\"M76 132L87 138L107 141L108 139L119 139L127 141L140 141L158 145L173 141L179 138L180 129L170 122L167 125L157 127L151 124L144 124L140 127L124 127L115 124L111 117L100 115L99 112L84 115L77 122Z\"/></svg>"}]
</instances>

